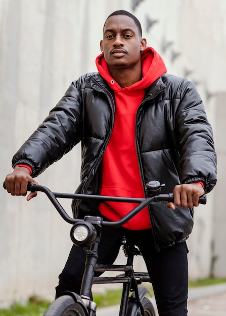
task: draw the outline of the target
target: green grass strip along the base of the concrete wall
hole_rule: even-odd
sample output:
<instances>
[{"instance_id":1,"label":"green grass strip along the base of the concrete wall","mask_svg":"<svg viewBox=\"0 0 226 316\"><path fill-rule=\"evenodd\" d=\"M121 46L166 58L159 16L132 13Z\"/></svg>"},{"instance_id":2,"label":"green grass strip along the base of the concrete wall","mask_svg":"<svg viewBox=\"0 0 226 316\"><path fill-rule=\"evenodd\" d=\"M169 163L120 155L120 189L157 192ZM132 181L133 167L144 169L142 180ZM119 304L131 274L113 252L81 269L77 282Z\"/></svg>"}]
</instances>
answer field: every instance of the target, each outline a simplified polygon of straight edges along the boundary
<instances>
[{"instance_id":1,"label":"green grass strip along the base of the concrete wall","mask_svg":"<svg viewBox=\"0 0 226 316\"><path fill-rule=\"evenodd\" d=\"M216 279L216 278L207 278L197 281L190 281L189 287L199 287L214 285L219 283L226 283L226 279ZM152 287L149 287L152 295ZM94 300L97 303L98 307L105 307L110 305L116 305L120 302L121 290L107 290L103 294L95 294ZM1 316L42 316L44 311L49 306L50 302L40 299L38 297L31 297L26 305L21 305L19 303L14 303L8 309L0 308Z\"/></svg>"}]
</instances>

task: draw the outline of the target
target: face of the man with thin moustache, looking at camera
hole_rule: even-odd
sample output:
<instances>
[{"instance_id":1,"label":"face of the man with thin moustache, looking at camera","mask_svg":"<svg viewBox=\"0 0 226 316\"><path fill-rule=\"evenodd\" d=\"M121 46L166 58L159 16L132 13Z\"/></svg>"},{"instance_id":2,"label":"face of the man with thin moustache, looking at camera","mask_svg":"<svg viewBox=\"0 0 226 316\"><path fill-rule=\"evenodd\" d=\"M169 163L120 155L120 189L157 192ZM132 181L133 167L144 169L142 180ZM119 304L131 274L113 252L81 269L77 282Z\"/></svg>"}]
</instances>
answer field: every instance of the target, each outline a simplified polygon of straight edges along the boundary
<instances>
[{"instance_id":1,"label":"face of the man with thin moustache, looking at camera","mask_svg":"<svg viewBox=\"0 0 226 316\"><path fill-rule=\"evenodd\" d=\"M141 63L141 50L146 40L139 35L134 21L124 15L111 16L107 19L101 50L109 68L131 68Z\"/></svg>"}]
</instances>

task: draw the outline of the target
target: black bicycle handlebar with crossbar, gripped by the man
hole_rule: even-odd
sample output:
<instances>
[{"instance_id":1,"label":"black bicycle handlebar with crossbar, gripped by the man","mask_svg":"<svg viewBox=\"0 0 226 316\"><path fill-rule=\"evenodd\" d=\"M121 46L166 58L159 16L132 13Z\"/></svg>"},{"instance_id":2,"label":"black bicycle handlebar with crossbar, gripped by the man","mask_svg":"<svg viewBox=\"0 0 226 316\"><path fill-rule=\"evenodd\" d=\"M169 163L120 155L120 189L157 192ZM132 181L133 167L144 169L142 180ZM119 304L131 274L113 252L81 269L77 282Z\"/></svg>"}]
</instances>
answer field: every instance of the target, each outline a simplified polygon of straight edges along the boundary
<instances>
[{"instance_id":1,"label":"black bicycle handlebar with crossbar, gripped by the man","mask_svg":"<svg viewBox=\"0 0 226 316\"><path fill-rule=\"evenodd\" d=\"M5 182L3 184L4 188L6 189ZM91 195L91 194L71 194L71 193L57 193L52 192L49 188L42 186L42 185L36 185L34 183L28 183L27 190L34 192L39 191L45 193L52 204L57 209L58 213L61 215L61 217L70 224L75 224L78 221L81 221L80 219L73 219L71 218L65 211L65 209L61 206L60 202L57 198L70 198L70 199L86 199L86 200L99 200L99 201L112 201L112 202L130 202L130 203L139 203L139 205L135 206L127 215L125 215L122 219L120 219L117 222L107 222L103 221L102 226L111 226L111 227L120 227L126 222L128 222L133 216L138 214L143 208L148 206L152 202L157 201L169 201L173 202L174 197L173 193L169 194L157 194L151 197L147 198L134 198L134 197L116 197L116 196L103 196L103 195ZM200 204L206 204L206 195L202 195L199 198Z\"/></svg>"}]
</instances>

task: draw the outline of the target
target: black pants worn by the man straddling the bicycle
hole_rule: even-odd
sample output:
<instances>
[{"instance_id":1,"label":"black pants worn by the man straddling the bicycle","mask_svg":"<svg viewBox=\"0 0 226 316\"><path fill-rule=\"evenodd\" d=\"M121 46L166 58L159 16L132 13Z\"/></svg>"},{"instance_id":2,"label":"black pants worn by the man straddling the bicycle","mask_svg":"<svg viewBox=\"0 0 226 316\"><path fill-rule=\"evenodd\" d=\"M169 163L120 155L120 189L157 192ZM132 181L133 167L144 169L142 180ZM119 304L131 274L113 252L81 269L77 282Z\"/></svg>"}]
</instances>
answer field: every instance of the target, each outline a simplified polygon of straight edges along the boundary
<instances>
[{"instance_id":1,"label":"black pants worn by the man straddling the bicycle","mask_svg":"<svg viewBox=\"0 0 226 316\"><path fill-rule=\"evenodd\" d=\"M124 228L103 228L99 245L99 263L112 264L125 235L142 252L152 280L159 316L187 316L188 248L186 242L157 252L151 230L129 231ZM80 292L84 271L84 253L73 246L65 268L59 276L56 297L63 291Z\"/></svg>"}]
</instances>

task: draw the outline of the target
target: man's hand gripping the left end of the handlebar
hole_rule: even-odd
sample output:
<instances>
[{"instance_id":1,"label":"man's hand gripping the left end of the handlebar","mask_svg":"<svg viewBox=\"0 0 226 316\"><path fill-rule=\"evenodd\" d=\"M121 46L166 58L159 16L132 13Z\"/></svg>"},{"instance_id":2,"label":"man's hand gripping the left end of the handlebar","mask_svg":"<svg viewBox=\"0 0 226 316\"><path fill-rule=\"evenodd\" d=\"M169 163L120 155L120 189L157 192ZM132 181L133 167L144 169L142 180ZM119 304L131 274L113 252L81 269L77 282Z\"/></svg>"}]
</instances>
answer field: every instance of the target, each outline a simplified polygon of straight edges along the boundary
<instances>
[{"instance_id":1,"label":"man's hand gripping the left end of the handlebar","mask_svg":"<svg viewBox=\"0 0 226 316\"><path fill-rule=\"evenodd\" d=\"M27 194L28 183L38 184L30 176L30 172L26 167L15 167L14 171L6 177L5 184L7 192L12 195L23 195ZM30 192L27 196L29 201L32 197L35 197L37 192Z\"/></svg>"}]
</instances>

